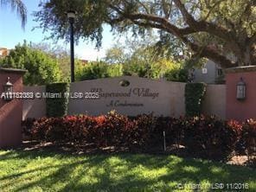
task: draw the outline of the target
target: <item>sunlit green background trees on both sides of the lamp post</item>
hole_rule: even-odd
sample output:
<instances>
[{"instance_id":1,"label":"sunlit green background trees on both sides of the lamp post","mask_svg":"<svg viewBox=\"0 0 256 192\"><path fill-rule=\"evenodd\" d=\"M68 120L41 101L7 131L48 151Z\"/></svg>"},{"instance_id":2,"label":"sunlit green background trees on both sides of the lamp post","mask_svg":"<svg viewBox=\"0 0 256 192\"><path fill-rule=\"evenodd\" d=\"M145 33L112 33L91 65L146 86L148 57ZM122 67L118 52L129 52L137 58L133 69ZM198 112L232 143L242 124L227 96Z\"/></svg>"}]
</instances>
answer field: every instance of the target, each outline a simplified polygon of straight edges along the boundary
<instances>
[{"instance_id":1,"label":"sunlit green background trees on both sides of the lamp post","mask_svg":"<svg viewBox=\"0 0 256 192\"><path fill-rule=\"evenodd\" d=\"M75 80L136 75L150 79L186 82L186 61L176 60L165 48L159 50L156 42L149 40L125 42L125 47L113 45L102 61L81 61L75 58ZM27 69L24 84L46 85L70 82L70 55L66 49L48 43L23 42L10 50L10 55L0 59L0 67Z\"/></svg>"}]
</instances>

